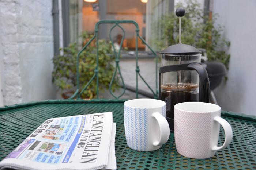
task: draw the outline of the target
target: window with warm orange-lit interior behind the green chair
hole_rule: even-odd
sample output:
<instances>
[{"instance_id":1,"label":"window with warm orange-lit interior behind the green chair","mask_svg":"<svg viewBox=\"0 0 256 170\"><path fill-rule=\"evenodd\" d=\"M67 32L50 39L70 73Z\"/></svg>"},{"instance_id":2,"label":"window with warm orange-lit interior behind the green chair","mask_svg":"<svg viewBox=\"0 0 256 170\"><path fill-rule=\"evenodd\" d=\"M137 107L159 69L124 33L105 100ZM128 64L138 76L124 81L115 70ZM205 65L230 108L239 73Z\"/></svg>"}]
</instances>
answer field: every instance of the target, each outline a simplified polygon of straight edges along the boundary
<instances>
[{"instance_id":1,"label":"window with warm orange-lit interior behind the green chair","mask_svg":"<svg viewBox=\"0 0 256 170\"><path fill-rule=\"evenodd\" d=\"M163 15L173 11L173 6L173 0L148 0L147 3L143 3L141 0L97 0L94 3L87 2L87 0L70 0L70 42L80 42L79 35L83 31L94 34L95 24L99 20L135 20L139 25L140 36L151 45L151 40L156 38L152 37L153 25ZM122 24L121 26L125 30L122 48L126 47L127 50L135 50L135 26L132 24ZM99 29L99 38L109 40L111 27L111 24L102 24ZM154 32L154 36L161 34L159 30L161 29L157 29L158 32ZM111 36L115 43L120 44L122 38L121 29L114 28ZM138 49L140 51L147 50L140 40L138 41Z\"/></svg>"}]
</instances>

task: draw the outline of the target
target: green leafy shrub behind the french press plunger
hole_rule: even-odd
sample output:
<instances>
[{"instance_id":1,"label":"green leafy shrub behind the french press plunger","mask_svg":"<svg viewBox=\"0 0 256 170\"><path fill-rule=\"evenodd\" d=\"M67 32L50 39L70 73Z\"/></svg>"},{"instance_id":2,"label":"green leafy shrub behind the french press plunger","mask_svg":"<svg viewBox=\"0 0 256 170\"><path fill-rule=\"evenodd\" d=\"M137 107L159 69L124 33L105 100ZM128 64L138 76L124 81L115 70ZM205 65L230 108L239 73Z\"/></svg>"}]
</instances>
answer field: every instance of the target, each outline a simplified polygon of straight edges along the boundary
<instances>
[{"instance_id":1,"label":"green leafy shrub behind the french press plunger","mask_svg":"<svg viewBox=\"0 0 256 170\"><path fill-rule=\"evenodd\" d=\"M181 19L181 42L195 46L196 48L204 48L207 52L209 61L222 62L228 69L230 55L227 50L230 42L222 38L223 26L216 25L215 22L218 14L209 18L207 13L200 8L197 1L187 0L186 6L182 3L177 4L186 10L185 16ZM163 31L162 37L155 35L153 40L158 50L178 43L179 23L175 13L164 16L158 24ZM159 32L159 28L155 28L154 32Z\"/></svg>"}]
</instances>

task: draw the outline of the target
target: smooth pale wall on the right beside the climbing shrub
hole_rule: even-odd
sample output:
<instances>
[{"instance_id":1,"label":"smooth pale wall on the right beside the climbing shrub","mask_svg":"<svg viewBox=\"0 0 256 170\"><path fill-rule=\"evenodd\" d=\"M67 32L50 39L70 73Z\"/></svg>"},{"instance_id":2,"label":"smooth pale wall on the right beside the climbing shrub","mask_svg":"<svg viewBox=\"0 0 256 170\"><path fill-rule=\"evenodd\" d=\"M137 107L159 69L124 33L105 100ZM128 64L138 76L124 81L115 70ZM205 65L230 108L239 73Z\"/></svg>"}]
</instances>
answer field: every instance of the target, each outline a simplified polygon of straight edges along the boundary
<instances>
[{"instance_id":1,"label":"smooth pale wall on the right beside the climbing shrub","mask_svg":"<svg viewBox=\"0 0 256 170\"><path fill-rule=\"evenodd\" d=\"M256 1L214 0L216 24L225 26L231 42L228 80L214 92L227 111L256 115Z\"/></svg>"}]
</instances>

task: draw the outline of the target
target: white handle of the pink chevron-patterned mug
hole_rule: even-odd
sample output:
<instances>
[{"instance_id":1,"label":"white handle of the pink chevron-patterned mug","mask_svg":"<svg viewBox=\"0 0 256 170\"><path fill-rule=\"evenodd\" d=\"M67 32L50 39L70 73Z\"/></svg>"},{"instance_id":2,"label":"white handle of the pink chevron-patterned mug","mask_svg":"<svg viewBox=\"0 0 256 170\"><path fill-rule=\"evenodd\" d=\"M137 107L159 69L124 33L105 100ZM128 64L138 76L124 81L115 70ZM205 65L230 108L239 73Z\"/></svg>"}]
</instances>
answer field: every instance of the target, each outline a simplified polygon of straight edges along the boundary
<instances>
[{"instance_id":1,"label":"white handle of the pink chevron-patterned mug","mask_svg":"<svg viewBox=\"0 0 256 170\"><path fill-rule=\"evenodd\" d=\"M225 119L223 119L219 116L216 116L216 117L214 117L213 120L215 120L219 124L221 124L224 129L224 132L225 132L225 141L224 141L223 145L222 146L216 145L216 146L212 147L212 151L217 151L217 150L221 150L221 149L229 146L229 144L233 138L233 131L232 131L231 125Z\"/></svg>"}]
</instances>

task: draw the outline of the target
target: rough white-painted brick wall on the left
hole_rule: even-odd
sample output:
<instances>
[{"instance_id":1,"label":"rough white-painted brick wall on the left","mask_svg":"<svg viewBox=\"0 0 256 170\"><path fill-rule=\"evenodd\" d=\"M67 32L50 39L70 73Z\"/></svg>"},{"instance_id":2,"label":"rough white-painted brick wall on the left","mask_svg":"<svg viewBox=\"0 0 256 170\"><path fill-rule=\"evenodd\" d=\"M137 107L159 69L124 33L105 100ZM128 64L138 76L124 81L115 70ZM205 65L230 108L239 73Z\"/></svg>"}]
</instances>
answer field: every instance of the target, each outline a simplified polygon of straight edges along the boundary
<instances>
[{"instance_id":1,"label":"rough white-painted brick wall on the left","mask_svg":"<svg viewBox=\"0 0 256 170\"><path fill-rule=\"evenodd\" d=\"M0 0L3 104L55 98L52 0Z\"/></svg>"}]
</instances>

